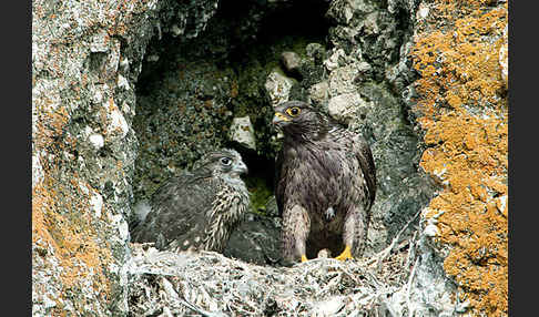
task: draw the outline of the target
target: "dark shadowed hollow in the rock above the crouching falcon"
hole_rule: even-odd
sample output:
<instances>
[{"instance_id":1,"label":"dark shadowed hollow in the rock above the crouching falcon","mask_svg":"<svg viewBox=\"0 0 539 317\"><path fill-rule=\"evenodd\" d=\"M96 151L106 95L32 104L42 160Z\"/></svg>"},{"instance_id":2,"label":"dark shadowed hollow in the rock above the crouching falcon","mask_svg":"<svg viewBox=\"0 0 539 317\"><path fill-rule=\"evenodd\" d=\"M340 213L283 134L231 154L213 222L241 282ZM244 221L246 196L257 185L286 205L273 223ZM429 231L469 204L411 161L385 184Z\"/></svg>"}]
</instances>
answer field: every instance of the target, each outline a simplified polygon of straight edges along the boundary
<instances>
[{"instance_id":1,"label":"dark shadowed hollow in the rock above the crouching falcon","mask_svg":"<svg viewBox=\"0 0 539 317\"><path fill-rule=\"evenodd\" d=\"M271 71L282 69L282 52L304 55L308 43L327 47L328 4L225 0L195 38L162 27L146 48L136 85L135 202L179 170L191 168L209 149L233 147L248 167L244 180L253 212L264 214L278 150L264 83ZM231 140L236 116L251 119L256 149Z\"/></svg>"}]
</instances>

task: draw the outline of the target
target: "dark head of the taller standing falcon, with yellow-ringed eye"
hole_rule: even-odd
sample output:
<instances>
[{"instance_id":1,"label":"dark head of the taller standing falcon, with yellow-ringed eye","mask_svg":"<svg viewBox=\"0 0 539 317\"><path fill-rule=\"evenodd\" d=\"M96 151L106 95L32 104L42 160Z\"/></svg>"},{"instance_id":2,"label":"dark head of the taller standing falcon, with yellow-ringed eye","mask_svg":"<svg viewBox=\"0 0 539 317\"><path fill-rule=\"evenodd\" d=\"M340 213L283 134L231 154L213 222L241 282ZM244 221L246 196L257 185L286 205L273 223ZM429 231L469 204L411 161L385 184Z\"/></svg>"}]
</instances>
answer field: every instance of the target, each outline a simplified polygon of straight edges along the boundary
<instances>
[{"instance_id":1,"label":"dark head of the taller standing falcon, with yellow-ringed eye","mask_svg":"<svg viewBox=\"0 0 539 317\"><path fill-rule=\"evenodd\" d=\"M318 139L327 130L327 116L302 101L287 101L275 106L272 123L285 135L302 139Z\"/></svg>"}]
</instances>

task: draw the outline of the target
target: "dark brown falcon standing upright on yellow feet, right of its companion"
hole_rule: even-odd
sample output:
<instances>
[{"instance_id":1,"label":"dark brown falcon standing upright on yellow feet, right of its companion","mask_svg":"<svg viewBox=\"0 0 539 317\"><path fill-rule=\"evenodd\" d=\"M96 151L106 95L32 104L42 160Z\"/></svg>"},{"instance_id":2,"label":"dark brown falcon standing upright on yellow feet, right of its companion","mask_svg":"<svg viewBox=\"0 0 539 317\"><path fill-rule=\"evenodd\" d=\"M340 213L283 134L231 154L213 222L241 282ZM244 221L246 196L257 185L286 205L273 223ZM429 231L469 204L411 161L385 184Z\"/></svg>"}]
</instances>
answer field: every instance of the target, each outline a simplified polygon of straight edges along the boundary
<instances>
[{"instance_id":1,"label":"dark brown falcon standing upright on yellow feet, right of its companion","mask_svg":"<svg viewBox=\"0 0 539 317\"><path fill-rule=\"evenodd\" d=\"M301 101L276 106L273 123L284 134L275 178L284 260L324 248L342 260L360 255L376 194L367 142Z\"/></svg>"}]
</instances>

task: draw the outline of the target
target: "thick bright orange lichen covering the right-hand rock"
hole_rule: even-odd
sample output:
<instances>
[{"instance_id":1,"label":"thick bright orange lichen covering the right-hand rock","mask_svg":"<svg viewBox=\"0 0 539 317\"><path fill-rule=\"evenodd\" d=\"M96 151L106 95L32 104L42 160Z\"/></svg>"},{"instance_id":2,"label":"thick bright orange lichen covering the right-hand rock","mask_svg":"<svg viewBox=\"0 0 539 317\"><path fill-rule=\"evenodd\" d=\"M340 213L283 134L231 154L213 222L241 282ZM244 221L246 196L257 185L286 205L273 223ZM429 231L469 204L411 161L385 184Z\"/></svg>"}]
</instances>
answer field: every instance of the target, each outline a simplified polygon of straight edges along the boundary
<instances>
[{"instance_id":1,"label":"thick bright orange lichen covering the right-hand rock","mask_svg":"<svg viewBox=\"0 0 539 317\"><path fill-rule=\"evenodd\" d=\"M434 1L411 52L420 73L415 111L428 149L420 166L441 185L428 216L440 214L444 263L475 316L508 314L507 3Z\"/></svg>"}]
</instances>

